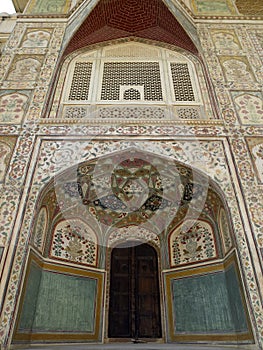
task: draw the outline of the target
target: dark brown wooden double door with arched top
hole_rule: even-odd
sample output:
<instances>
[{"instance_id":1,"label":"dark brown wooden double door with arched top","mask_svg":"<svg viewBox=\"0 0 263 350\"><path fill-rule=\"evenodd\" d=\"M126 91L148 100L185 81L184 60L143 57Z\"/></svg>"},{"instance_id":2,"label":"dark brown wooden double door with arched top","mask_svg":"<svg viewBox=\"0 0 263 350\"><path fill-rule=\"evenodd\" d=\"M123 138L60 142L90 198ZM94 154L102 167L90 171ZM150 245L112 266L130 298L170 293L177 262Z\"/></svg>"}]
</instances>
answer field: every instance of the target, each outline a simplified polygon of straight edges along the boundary
<instances>
[{"instance_id":1,"label":"dark brown wooden double door with arched top","mask_svg":"<svg viewBox=\"0 0 263 350\"><path fill-rule=\"evenodd\" d=\"M148 244L112 250L109 338L161 338L158 257Z\"/></svg>"}]
</instances>

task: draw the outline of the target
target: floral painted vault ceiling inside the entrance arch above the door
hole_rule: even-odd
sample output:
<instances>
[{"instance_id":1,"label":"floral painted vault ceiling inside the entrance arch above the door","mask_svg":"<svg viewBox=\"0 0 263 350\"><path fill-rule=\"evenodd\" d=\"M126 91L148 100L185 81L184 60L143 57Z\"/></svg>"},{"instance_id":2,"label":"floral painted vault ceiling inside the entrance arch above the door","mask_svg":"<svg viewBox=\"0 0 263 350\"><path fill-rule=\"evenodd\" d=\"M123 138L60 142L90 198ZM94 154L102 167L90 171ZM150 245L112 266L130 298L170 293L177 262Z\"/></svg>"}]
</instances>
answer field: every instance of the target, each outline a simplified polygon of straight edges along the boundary
<instances>
[{"instance_id":1,"label":"floral painted vault ceiling inside the entrance arch above the door","mask_svg":"<svg viewBox=\"0 0 263 350\"><path fill-rule=\"evenodd\" d=\"M42 198L39 204L48 208L51 222L80 216L104 232L143 225L160 234L186 216L215 222L223 206L205 175L136 149L67 170L54 179Z\"/></svg>"}]
</instances>

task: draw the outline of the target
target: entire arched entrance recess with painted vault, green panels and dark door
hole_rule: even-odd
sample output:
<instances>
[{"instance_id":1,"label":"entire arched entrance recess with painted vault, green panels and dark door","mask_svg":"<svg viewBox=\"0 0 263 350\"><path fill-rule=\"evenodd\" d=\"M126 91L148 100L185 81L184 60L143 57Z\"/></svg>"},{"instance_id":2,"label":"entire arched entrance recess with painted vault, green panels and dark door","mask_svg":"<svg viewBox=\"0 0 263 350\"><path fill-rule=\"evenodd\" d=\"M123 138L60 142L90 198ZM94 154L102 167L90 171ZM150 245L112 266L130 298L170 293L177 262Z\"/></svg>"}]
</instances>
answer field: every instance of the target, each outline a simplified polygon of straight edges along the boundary
<instances>
[{"instance_id":1,"label":"entire arched entrance recess with painted vault, green panels and dark door","mask_svg":"<svg viewBox=\"0 0 263 350\"><path fill-rule=\"evenodd\" d=\"M179 161L129 148L67 169L30 242L14 342L253 342L228 207Z\"/></svg>"}]
</instances>

